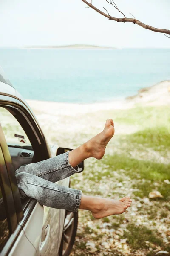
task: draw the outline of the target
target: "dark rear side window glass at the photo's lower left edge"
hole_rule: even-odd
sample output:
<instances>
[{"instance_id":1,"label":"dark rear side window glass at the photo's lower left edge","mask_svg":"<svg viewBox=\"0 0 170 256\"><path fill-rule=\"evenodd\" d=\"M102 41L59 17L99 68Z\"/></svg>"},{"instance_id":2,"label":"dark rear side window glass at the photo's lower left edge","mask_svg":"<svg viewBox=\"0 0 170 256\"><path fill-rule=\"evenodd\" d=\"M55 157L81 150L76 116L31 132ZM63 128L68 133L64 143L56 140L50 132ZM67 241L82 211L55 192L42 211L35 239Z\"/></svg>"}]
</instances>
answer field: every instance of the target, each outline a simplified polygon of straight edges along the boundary
<instances>
[{"instance_id":1,"label":"dark rear side window glass at the photo's lower left edge","mask_svg":"<svg viewBox=\"0 0 170 256\"><path fill-rule=\"evenodd\" d=\"M8 239L9 229L6 219L5 207L3 204L2 192L0 188L0 249L2 249L4 242Z\"/></svg>"}]
</instances>

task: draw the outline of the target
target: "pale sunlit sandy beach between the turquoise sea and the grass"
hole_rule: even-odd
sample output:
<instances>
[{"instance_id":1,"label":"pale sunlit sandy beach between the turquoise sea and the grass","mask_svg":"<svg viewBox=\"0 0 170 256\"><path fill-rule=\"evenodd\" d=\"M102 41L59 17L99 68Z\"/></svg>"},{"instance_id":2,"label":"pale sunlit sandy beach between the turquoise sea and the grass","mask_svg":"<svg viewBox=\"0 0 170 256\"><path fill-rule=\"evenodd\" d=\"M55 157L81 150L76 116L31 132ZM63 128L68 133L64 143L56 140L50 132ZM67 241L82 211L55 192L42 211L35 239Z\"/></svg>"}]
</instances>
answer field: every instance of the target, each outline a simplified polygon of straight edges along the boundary
<instances>
[{"instance_id":1,"label":"pale sunlit sandy beach between the turquoise sea and the grass","mask_svg":"<svg viewBox=\"0 0 170 256\"><path fill-rule=\"evenodd\" d=\"M143 88L136 96L114 102L72 104L29 99L27 102L36 114L50 143L57 142L57 144L63 145L66 137L67 144L69 141L70 143L73 142L73 137L77 137L79 142L84 142L85 137L82 134L88 135L101 131L105 119L112 117L116 120L119 113L123 113L122 111L134 109L137 106L169 105L170 81L163 81L151 87ZM131 134L138 129L138 125L127 124L125 126L120 122L116 123L116 134ZM56 133L59 134L57 141ZM70 146L77 144L71 143Z\"/></svg>"}]
</instances>

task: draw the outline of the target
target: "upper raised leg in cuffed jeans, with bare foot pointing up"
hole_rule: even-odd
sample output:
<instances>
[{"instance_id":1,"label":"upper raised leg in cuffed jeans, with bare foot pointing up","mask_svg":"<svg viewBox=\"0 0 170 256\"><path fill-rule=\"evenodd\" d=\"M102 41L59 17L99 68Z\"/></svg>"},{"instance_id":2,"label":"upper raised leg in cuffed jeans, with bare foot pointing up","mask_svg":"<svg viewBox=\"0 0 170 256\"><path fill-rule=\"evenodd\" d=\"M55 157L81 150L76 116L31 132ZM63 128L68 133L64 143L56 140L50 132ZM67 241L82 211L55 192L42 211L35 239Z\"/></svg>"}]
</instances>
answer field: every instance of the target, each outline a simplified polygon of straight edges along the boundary
<instances>
[{"instance_id":1,"label":"upper raised leg in cuffed jeans, with bare foot pointing up","mask_svg":"<svg viewBox=\"0 0 170 256\"><path fill-rule=\"evenodd\" d=\"M113 120L109 119L106 121L105 128L101 133L97 134L78 148L38 163L21 166L15 173L26 172L51 182L65 179L78 172L78 164L88 157L101 159L105 154L105 148L113 135L114 124Z\"/></svg>"}]
</instances>

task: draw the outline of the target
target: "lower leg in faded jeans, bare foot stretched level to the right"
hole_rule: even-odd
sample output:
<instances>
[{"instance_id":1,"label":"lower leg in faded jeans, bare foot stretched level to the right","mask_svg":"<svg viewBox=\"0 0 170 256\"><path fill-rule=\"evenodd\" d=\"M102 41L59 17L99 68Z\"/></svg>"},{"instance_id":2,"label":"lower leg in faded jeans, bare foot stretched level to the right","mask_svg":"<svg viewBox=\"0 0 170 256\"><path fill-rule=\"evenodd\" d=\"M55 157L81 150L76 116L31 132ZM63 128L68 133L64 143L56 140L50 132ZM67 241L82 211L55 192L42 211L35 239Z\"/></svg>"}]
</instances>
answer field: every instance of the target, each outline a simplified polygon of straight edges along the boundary
<instances>
[{"instance_id":1,"label":"lower leg in faded jeans, bare foot stretched level to the right","mask_svg":"<svg viewBox=\"0 0 170 256\"><path fill-rule=\"evenodd\" d=\"M132 202L129 197L113 200L82 195L81 190L59 186L26 172L20 172L16 177L22 198L31 197L42 205L71 212L77 212L78 209L89 210L94 218L121 214Z\"/></svg>"}]
</instances>

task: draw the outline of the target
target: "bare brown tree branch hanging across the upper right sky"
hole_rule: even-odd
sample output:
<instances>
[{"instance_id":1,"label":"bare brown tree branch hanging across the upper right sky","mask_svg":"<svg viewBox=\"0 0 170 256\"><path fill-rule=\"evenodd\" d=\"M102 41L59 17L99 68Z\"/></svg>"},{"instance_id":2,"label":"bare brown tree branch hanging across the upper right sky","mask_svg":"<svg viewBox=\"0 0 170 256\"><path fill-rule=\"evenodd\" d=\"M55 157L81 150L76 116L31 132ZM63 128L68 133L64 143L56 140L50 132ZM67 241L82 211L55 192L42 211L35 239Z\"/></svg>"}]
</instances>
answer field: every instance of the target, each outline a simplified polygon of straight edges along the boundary
<instances>
[{"instance_id":1,"label":"bare brown tree branch hanging across the upper right sky","mask_svg":"<svg viewBox=\"0 0 170 256\"><path fill-rule=\"evenodd\" d=\"M150 25L146 25L144 23L142 23L141 21L139 20L136 20L135 18L132 19L132 18L127 18L127 17L124 17L124 18L116 18L116 17L112 17L108 14L106 14L105 12L102 12L101 10L99 10L98 8L96 8L95 6L93 6L91 3L88 3L86 0L81 0L82 2L86 3L89 7L91 7L92 9L94 9L96 12L99 12L101 15L105 16L106 18L108 18L109 20L114 20L114 21L117 21L117 22L131 22L133 24L137 24L139 26L141 26L142 28L144 29L149 29L151 31L154 31L154 32L158 32L158 33L164 33L164 34L168 34L170 35L170 30L169 29L158 29L158 28L155 28L153 26L150 26ZM109 3L109 2L108 2ZM113 2L114 3L114 2ZM113 4L112 4L113 5ZM114 5L113 5L114 6ZM115 7L116 8L116 7ZM117 9L117 8L116 8ZM124 15L125 16L125 15ZM166 35L167 36L167 35ZM168 37L168 36L167 36Z\"/></svg>"}]
</instances>

